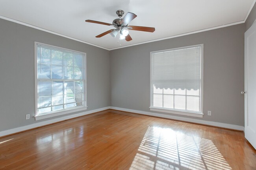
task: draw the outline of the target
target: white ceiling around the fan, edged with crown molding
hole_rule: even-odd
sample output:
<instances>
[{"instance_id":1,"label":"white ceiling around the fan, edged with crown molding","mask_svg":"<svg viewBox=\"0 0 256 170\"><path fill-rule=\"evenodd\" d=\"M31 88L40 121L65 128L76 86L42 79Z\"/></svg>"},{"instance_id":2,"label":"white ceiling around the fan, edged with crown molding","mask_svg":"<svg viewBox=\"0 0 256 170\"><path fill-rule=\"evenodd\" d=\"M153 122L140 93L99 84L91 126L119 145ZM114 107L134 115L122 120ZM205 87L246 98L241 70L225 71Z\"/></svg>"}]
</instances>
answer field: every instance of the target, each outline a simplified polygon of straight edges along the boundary
<instances>
[{"instance_id":1,"label":"white ceiling around the fan, edged with crown molding","mask_svg":"<svg viewBox=\"0 0 256 170\"><path fill-rule=\"evenodd\" d=\"M226 24L243 23L254 0L0 0L0 15L105 49L182 35ZM154 33L129 31L126 42L96 35L114 27L93 24L96 20L112 24L116 11L135 13L133 26L155 27ZM10 20L8 19L8 20ZM121 45L120 45L121 44Z\"/></svg>"}]
</instances>

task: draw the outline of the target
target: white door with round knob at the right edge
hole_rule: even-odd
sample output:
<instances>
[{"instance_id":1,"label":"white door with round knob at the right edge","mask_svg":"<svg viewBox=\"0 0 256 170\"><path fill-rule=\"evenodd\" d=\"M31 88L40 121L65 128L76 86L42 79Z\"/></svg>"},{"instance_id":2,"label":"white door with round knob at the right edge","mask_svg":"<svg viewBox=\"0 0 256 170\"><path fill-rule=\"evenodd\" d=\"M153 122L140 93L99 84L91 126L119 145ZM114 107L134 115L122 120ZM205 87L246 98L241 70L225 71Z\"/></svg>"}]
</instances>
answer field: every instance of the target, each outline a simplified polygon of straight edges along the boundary
<instances>
[{"instance_id":1,"label":"white door with round knob at the right edge","mask_svg":"<svg viewBox=\"0 0 256 170\"><path fill-rule=\"evenodd\" d=\"M242 93L242 92L241 92ZM256 24L245 32L245 138L256 148Z\"/></svg>"}]
</instances>

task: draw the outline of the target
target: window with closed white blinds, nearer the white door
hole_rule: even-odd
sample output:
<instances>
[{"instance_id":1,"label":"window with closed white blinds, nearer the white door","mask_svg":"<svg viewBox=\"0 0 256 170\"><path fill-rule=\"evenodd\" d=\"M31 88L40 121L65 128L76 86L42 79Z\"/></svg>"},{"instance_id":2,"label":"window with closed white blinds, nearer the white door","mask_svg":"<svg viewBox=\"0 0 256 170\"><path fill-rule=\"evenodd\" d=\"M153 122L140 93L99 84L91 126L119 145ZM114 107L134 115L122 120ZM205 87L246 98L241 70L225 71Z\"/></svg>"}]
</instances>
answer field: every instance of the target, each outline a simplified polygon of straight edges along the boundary
<instances>
[{"instance_id":1,"label":"window with closed white blinds, nearer the white door","mask_svg":"<svg viewBox=\"0 0 256 170\"><path fill-rule=\"evenodd\" d=\"M151 52L150 110L202 117L202 49Z\"/></svg>"}]
</instances>

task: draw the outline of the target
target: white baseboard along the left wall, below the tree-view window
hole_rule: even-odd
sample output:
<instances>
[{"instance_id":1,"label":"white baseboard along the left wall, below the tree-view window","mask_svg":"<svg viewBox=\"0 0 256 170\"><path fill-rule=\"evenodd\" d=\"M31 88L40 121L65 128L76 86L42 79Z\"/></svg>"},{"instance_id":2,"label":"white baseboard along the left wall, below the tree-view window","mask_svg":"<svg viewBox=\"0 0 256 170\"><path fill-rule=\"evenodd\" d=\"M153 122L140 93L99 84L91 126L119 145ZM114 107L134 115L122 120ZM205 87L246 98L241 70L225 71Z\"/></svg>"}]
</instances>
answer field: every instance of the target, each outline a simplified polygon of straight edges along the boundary
<instances>
[{"instance_id":1,"label":"white baseboard along the left wall, below the tree-view window","mask_svg":"<svg viewBox=\"0 0 256 170\"><path fill-rule=\"evenodd\" d=\"M80 116L83 116L83 115L88 115L88 114L91 114L91 113L100 112L100 111L103 111L103 110L108 110L109 108L110 107L98 108L98 109L95 109L95 110L89 110L89 111L77 113L77 114L74 114L74 115L67 115L67 116L51 119L51 120L48 120L48 121L42 121L42 122L37 122L37 123L33 123L33 124L30 124L30 125L26 125L26 126L21 126L19 128L4 130L4 131L0 132L0 137L10 135L10 134L13 134L13 133L17 133L17 132L22 132L24 130L38 128L40 126L45 126L47 124L52 124L52 123L56 123L56 122L60 122L60 121L65 121L67 119L72 119L72 118L75 118L75 117L80 117Z\"/></svg>"}]
</instances>

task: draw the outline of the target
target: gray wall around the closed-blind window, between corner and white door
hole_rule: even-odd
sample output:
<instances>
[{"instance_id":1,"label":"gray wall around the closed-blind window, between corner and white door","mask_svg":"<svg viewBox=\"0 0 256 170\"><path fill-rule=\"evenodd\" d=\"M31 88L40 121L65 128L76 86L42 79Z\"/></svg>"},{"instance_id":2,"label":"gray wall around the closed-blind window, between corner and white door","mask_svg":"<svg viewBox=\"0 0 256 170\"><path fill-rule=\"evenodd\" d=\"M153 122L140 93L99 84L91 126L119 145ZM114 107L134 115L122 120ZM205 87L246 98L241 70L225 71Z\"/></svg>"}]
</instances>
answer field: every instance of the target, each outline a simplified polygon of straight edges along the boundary
<instances>
[{"instance_id":1,"label":"gray wall around the closed-blind window, between corner and white door","mask_svg":"<svg viewBox=\"0 0 256 170\"><path fill-rule=\"evenodd\" d=\"M197 119L243 126L244 32L239 24L110 51L111 106L150 112L150 51L204 44L205 115Z\"/></svg>"}]
</instances>

